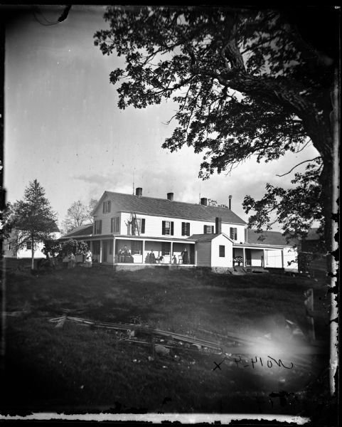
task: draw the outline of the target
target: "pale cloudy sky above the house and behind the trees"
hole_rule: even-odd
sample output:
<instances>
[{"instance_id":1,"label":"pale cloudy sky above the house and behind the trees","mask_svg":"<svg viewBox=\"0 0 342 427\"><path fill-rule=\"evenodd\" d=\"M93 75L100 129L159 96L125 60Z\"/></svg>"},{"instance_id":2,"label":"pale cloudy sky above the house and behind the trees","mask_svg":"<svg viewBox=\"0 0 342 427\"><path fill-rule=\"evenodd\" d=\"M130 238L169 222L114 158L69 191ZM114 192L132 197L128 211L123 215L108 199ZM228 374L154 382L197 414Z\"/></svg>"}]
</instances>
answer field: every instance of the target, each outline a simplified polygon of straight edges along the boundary
<instances>
[{"instance_id":1,"label":"pale cloudy sky above the house and behind the trees","mask_svg":"<svg viewBox=\"0 0 342 427\"><path fill-rule=\"evenodd\" d=\"M296 164L316 157L311 144L299 154L274 162L240 164L230 174L198 179L203 154L191 147L162 149L176 122L166 125L176 104L164 102L145 110L117 107L109 73L122 58L102 56L95 31L107 28L104 6L72 6L68 18L55 23L63 6L17 6L6 28L4 186L8 201L22 199L30 181L46 190L62 223L74 201L100 199L104 191L198 203L207 197L228 204L247 221L245 195L260 199L267 183L291 186ZM274 229L279 229L275 227Z\"/></svg>"}]
</instances>

